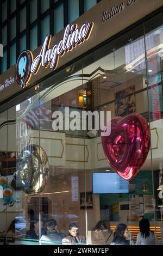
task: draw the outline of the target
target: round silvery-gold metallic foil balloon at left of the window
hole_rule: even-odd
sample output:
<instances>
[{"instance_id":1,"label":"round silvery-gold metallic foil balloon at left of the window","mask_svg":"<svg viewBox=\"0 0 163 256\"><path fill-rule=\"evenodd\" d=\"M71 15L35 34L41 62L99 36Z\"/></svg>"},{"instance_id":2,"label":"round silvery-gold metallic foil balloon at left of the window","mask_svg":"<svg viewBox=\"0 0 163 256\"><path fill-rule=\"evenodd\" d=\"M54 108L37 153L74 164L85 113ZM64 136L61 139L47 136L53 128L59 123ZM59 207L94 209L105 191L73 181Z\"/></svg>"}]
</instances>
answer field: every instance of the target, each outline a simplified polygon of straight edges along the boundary
<instances>
[{"instance_id":1,"label":"round silvery-gold metallic foil balloon at left of the window","mask_svg":"<svg viewBox=\"0 0 163 256\"><path fill-rule=\"evenodd\" d=\"M24 192L42 192L47 184L48 173L48 157L39 145L29 145L22 150L16 176Z\"/></svg>"}]
</instances>

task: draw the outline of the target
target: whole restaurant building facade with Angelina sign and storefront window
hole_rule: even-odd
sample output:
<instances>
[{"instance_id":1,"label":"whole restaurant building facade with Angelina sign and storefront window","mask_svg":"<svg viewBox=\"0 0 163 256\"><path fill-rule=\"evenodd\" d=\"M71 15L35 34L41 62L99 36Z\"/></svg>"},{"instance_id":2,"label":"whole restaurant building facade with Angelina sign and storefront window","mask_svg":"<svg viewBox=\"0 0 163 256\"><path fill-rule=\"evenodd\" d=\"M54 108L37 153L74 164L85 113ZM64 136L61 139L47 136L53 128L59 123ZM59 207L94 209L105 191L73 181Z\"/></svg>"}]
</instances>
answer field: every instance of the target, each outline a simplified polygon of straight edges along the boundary
<instances>
[{"instance_id":1,"label":"whole restaurant building facade with Angelina sign and storefront window","mask_svg":"<svg viewBox=\"0 0 163 256\"><path fill-rule=\"evenodd\" d=\"M136 242L142 218L162 243L163 1L98 2L1 1L2 243L45 244L50 219L66 235L76 223L87 244L99 220L123 222Z\"/></svg>"}]
</instances>

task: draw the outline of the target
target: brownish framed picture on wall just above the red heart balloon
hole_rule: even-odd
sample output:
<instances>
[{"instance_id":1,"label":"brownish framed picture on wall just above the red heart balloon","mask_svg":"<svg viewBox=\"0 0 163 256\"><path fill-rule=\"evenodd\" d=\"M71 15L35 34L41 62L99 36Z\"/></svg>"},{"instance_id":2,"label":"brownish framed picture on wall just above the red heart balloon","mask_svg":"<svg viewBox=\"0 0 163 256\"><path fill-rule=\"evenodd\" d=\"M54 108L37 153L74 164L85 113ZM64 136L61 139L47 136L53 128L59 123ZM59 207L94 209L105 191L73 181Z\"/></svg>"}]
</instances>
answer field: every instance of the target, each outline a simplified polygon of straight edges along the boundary
<instances>
[{"instance_id":1,"label":"brownish framed picture on wall just above the red heart balloon","mask_svg":"<svg viewBox=\"0 0 163 256\"><path fill-rule=\"evenodd\" d=\"M123 117L136 112L135 86L128 87L115 93L115 115Z\"/></svg>"}]
</instances>

